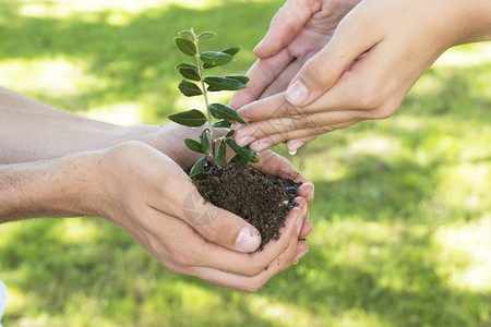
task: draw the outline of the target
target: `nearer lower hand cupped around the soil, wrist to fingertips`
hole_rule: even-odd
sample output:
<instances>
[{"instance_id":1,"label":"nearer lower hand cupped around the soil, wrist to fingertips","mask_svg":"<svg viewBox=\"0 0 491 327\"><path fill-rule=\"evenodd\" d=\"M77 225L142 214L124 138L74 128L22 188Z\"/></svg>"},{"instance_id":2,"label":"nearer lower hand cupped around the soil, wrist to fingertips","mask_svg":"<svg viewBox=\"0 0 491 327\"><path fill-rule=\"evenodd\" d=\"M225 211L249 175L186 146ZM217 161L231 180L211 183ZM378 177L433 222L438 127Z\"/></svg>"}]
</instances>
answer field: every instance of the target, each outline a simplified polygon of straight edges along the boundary
<instances>
[{"instance_id":1,"label":"nearer lower hand cupped around the soil, wrist to fingertips","mask_svg":"<svg viewBox=\"0 0 491 327\"><path fill-rule=\"evenodd\" d=\"M308 251L308 203L313 185L289 162L262 154L259 169L303 182L278 241L261 243L255 229L233 214L205 203L182 169L143 143L127 143L100 153L103 213L170 270L193 275L236 290L255 291ZM98 196L100 197L100 196ZM100 207L100 206L98 206ZM306 221L304 221L306 220ZM246 233L238 237L246 228ZM267 269L265 269L267 267Z\"/></svg>"}]
</instances>

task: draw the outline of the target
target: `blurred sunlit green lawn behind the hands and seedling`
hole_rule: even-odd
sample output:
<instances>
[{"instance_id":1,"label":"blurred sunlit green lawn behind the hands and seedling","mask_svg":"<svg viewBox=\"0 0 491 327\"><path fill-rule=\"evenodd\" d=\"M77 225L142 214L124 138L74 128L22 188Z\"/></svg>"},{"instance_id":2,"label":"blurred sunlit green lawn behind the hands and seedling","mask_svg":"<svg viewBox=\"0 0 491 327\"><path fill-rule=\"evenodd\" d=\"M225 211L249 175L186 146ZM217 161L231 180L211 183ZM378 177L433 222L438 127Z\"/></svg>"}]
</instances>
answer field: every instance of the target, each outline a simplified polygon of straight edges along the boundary
<instances>
[{"instance_id":1,"label":"blurred sunlit green lawn behind the hands and seedling","mask_svg":"<svg viewBox=\"0 0 491 327\"><path fill-rule=\"evenodd\" d=\"M0 84L166 123L190 105L173 35L216 31L209 49L242 45L227 69L246 72L282 2L0 0ZM1 226L4 326L490 326L490 85L491 45L455 48L393 118L290 157L316 185L311 251L254 294L171 274L98 218Z\"/></svg>"}]
</instances>

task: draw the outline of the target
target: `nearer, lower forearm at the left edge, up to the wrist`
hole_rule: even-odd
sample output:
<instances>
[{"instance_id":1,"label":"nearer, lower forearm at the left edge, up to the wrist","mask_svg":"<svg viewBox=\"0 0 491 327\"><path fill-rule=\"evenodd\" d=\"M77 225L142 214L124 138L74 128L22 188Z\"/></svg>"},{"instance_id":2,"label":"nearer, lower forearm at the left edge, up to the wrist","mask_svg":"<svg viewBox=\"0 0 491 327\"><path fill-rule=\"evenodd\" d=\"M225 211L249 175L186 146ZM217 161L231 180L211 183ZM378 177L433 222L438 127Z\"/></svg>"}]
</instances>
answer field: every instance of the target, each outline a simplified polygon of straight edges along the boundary
<instances>
[{"instance_id":1,"label":"nearer, lower forearm at the left edge, up to the wrist","mask_svg":"<svg viewBox=\"0 0 491 327\"><path fill-rule=\"evenodd\" d=\"M0 223L34 217L97 215L97 154L0 166Z\"/></svg>"}]
</instances>

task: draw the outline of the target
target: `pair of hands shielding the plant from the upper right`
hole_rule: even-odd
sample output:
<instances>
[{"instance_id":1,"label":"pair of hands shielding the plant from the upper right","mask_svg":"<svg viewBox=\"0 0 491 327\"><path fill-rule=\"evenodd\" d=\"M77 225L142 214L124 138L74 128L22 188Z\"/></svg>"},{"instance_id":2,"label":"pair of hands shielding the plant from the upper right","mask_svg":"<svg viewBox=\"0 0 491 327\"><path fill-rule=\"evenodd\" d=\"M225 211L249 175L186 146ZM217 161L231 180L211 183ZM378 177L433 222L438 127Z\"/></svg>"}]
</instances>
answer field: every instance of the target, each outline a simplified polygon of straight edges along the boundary
<instances>
[{"instance_id":1,"label":"pair of hands shielding the plant from the upper right","mask_svg":"<svg viewBox=\"0 0 491 327\"><path fill-rule=\"evenodd\" d=\"M491 39L491 2L288 0L254 49L250 87L230 105L256 152L391 117L448 48Z\"/></svg>"}]
</instances>

